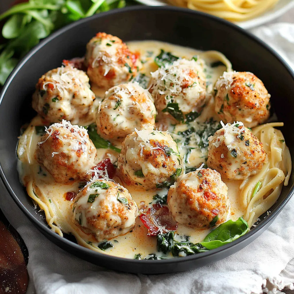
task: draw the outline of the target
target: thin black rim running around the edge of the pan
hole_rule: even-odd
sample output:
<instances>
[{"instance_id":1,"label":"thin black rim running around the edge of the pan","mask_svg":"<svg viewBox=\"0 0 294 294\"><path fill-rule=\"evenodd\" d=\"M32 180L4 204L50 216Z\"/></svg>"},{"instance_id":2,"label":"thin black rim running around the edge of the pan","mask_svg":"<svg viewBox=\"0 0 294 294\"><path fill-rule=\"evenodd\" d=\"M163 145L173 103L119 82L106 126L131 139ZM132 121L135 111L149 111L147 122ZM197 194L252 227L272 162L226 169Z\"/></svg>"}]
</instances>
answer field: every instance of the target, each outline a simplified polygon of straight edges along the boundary
<instances>
[{"instance_id":1,"label":"thin black rim running around the edge of the pan","mask_svg":"<svg viewBox=\"0 0 294 294\"><path fill-rule=\"evenodd\" d=\"M91 17L80 19L80 20L75 21L75 22L73 22L73 23L71 23L69 25L64 26L63 28L57 30L56 32L54 32L51 35L49 35L48 37L46 37L44 40L42 40L38 45L36 45L33 49L31 49L21 59L21 61L16 65L14 70L11 72L11 74L7 78L5 84L4 84L3 88L2 88L2 91L0 93L0 107L1 107L1 102L2 102L2 100L4 98L4 95L5 95L7 89L10 86L11 81L18 74L21 67L39 49L41 49L43 46L46 46L46 44L49 43L51 40L53 40L54 38L56 38L60 34L63 34L64 32L68 31L69 29L72 29L72 28L74 28L76 26L79 26L80 24L91 21L92 19L96 19L96 18L100 18L100 17L107 17L108 15L112 15L112 14L123 14L123 13L128 12L128 11L141 11L141 10L143 10L143 11L146 11L146 10L148 10L148 11L150 11L150 10L151 11L173 11L174 13L188 13L188 14L194 15L195 17L197 17L197 16L206 17L206 18L212 19L213 21L220 22L220 23L224 24L225 26L229 26L229 27L239 31L240 34L243 34L246 37L248 37L248 38L252 39L253 41L255 41L256 43L260 44L262 47L264 47L264 49L269 51L276 59L278 59L278 61L285 67L285 69L292 76L293 84L294 84L294 71L284 61L284 59L280 55L278 55L278 53L275 50L273 50L269 45L267 45L264 41L260 40L258 37L254 36L250 32L245 31L244 29L240 28L238 25L233 24L233 23L231 23L229 21L226 21L224 19L218 18L216 16L212 16L210 14L206 14L206 13L203 13L203 12L200 12L200 11L193 11L193 10L187 9L187 8L179 8L179 7L174 7L174 6L141 6L141 5L136 5L136 6L128 6L128 7L120 8L120 9L113 9L113 10L110 10L110 11L107 11L107 12L95 14L95 15L93 15ZM156 265L158 265L158 263L161 263L161 264L166 265L166 264L173 264L173 263L183 263L183 262L187 262L189 260L196 260L196 259L206 258L206 257L214 255L216 253L227 252L228 250L231 250L232 248L235 248L239 244L245 243L247 239L254 238L255 235L257 235L255 237L255 238L257 238L260 235L259 231L262 230L263 227L270 225L270 223L280 213L280 211L284 208L285 204L290 200L290 198L294 194L294 184L293 184L292 187L290 188L289 192L288 192L288 195L280 203L280 205L275 208L275 210L273 210L266 218L264 218L256 226L256 228L254 228L253 230L250 230L248 233L246 233L245 235L241 236L240 238L238 238L237 240L235 240L235 241L233 241L231 243L225 244L225 245L223 245L223 246L221 246L219 248L209 250L207 252L202 252L202 253L198 253L198 254L195 254L195 255L188 255L188 256L185 256L185 257L181 257L181 258L171 258L171 259L163 259L163 260L136 260L136 259L123 258L123 257L114 256L114 255L108 255L108 254L105 254L105 253L102 253L102 252L100 253L100 252L97 252L97 251L93 251L91 249L88 249L86 247L78 245L77 243L74 243L74 242L72 242L72 241L70 241L70 240L68 240L68 239L66 239L64 237L61 237L60 235L54 233L47 225L45 225L40 220L35 218L35 216L33 214L31 214L29 212L29 210L21 203L21 201L19 200L17 195L14 193L14 190L11 187L10 183L6 179L6 176L5 176L4 171L2 169L1 162L0 162L0 178L3 181L4 186L6 187L7 191L9 192L11 198L17 204L17 206L21 209L21 211L25 214L25 216L31 221L31 223L34 224L34 226L43 235L45 235L45 233L43 231L46 232L45 236L46 236L47 239L49 239L48 235L50 235L50 237L53 238L53 239L56 239L56 241L58 241L58 243L64 243L64 245L66 245L67 248L69 248L69 249L73 248L75 252L80 251L80 252L85 252L85 253L87 253L89 255L94 254L100 260L107 260L109 262L128 262L128 263L132 263L132 264L138 264L138 263L141 264L141 263L143 263L143 264L152 264L152 265L156 264ZM50 239L50 241L53 242L51 239ZM243 247L245 247L245 246L243 246Z\"/></svg>"}]
</instances>

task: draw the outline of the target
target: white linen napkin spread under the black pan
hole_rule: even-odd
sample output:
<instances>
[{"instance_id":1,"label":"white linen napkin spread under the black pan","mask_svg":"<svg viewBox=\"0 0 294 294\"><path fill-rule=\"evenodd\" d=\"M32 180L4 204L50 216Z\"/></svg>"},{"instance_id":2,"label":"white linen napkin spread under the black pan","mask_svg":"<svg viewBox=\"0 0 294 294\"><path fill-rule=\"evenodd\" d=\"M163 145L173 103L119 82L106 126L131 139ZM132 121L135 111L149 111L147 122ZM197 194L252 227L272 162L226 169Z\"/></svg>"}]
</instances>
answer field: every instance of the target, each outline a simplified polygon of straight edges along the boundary
<instances>
[{"instance_id":1,"label":"white linen napkin spread under the black pan","mask_svg":"<svg viewBox=\"0 0 294 294\"><path fill-rule=\"evenodd\" d=\"M294 66L294 24L263 26L253 33ZM4 191L2 182L0 188ZM268 230L224 260L183 273L136 275L101 268L60 249L6 194L0 207L29 250L29 294L273 294L294 289L294 197Z\"/></svg>"}]
</instances>

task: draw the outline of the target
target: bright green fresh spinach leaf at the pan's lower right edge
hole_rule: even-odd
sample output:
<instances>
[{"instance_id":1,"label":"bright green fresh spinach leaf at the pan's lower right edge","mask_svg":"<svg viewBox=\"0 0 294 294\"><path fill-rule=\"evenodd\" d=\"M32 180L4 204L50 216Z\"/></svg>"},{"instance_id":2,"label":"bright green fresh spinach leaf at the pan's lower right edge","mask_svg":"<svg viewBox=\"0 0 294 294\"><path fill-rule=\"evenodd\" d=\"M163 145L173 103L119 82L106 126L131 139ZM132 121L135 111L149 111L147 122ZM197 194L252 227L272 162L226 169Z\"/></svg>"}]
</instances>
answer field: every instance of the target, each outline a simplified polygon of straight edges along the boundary
<instances>
[{"instance_id":1,"label":"bright green fresh spinach leaf at the pan's lower right edge","mask_svg":"<svg viewBox=\"0 0 294 294\"><path fill-rule=\"evenodd\" d=\"M200 244L207 249L218 248L233 242L247 232L248 224L242 217L236 221L228 220L211 231Z\"/></svg>"}]
</instances>

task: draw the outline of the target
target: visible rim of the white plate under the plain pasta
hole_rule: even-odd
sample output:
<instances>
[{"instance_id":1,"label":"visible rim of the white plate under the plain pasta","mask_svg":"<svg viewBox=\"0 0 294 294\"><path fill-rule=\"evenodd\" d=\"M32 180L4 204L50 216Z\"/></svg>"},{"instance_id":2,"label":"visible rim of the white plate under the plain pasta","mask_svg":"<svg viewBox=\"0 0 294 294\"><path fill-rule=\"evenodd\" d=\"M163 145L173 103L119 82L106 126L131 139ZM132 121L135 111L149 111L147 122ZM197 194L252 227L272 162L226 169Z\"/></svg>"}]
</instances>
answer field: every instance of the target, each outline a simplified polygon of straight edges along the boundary
<instances>
[{"instance_id":1,"label":"visible rim of the white plate under the plain pasta","mask_svg":"<svg viewBox=\"0 0 294 294\"><path fill-rule=\"evenodd\" d=\"M142 4L149 5L149 6L164 6L168 5L162 1L159 0L136 0ZM272 9L266 11L264 14L255 17L254 19L249 19L247 21L237 22L238 26L240 26L243 29L250 29L255 26L260 26L261 24L264 24L268 21L271 21L285 12L287 12L289 9L294 7L294 0L280 0Z\"/></svg>"}]
</instances>

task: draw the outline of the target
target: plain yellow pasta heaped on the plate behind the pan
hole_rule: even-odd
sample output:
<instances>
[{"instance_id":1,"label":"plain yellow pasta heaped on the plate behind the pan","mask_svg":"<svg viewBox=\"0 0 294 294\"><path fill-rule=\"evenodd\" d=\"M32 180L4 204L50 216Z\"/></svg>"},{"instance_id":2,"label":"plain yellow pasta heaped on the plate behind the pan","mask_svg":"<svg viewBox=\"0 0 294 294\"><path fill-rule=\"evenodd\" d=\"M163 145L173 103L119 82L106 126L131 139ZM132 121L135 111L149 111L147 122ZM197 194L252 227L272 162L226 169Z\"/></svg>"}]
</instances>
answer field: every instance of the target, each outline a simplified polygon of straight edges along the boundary
<instances>
[{"instance_id":1,"label":"plain yellow pasta heaped on the plate behind the pan","mask_svg":"<svg viewBox=\"0 0 294 294\"><path fill-rule=\"evenodd\" d=\"M230 21L252 19L279 0L168 0L173 5L203 11Z\"/></svg>"}]
</instances>

